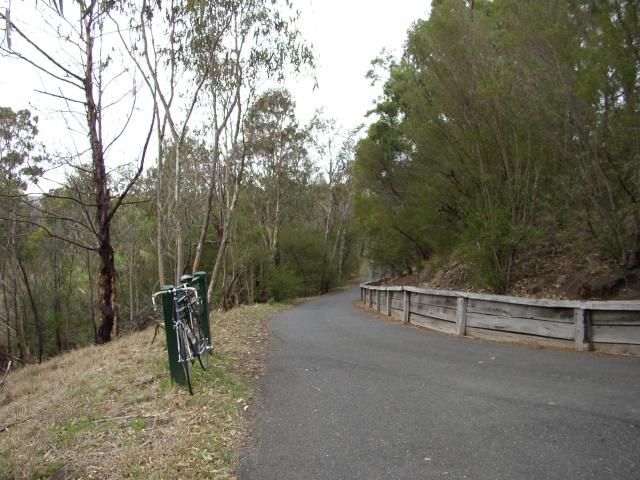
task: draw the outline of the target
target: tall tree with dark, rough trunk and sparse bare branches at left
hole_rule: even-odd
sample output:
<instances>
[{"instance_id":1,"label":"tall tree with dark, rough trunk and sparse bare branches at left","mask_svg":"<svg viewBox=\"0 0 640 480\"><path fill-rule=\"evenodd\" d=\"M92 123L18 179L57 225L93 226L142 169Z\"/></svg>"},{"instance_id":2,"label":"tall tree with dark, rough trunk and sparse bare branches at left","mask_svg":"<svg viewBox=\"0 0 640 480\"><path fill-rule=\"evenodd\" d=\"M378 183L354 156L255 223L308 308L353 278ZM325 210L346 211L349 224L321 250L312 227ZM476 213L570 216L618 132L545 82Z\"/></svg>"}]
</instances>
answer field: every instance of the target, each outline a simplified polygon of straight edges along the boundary
<instances>
[{"instance_id":1,"label":"tall tree with dark, rough trunk and sparse bare branches at left","mask_svg":"<svg viewBox=\"0 0 640 480\"><path fill-rule=\"evenodd\" d=\"M69 136L74 130L77 142L85 142L76 152L69 153L65 164L91 176L91 196L74 187L71 195L61 200L81 207L80 217L68 217L40 209L38 215L21 219L47 232L47 234L73 243L78 247L95 252L100 258L98 278L98 307L100 324L97 339L108 342L118 332L118 306L116 289L116 269L111 225L114 216L142 174L144 158L151 135L151 128L142 139L142 148L137 160L137 169L118 193L110 188L110 172L107 167L109 149L121 138L127 129L135 110L135 85L130 90L122 88L108 93L108 87L115 89L122 81L126 67L114 67L115 51L105 37L105 22L114 11L114 2L80 0L71 4L71 9L63 10L63 2L36 2L35 14L27 18L13 18L10 12L0 13L5 21L6 35L12 38L6 46L0 47L2 54L16 58L31 66L47 78L47 87L40 92L60 102L58 114L61 124L66 125ZM67 4L67 7L69 5ZM70 11L71 10L71 11ZM43 37L38 29L50 29L51 36ZM54 42L51 38L55 39ZM117 71L114 71L114 68ZM123 92L124 90L124 92ZM132 98L129 114L124 120L107 111L121 98ZM151 125L155 119L152 117ZM111 123L110 123L111 122ZM111 134L111 135L109 135ZM88 165L88 166L87 166ZM34 204L32 203L32 206ZM35 205L37 209L37 205ZM61 223L83 228L90 234L90 241L77 241L48 227L46 222L55 217Z\"/></svg>"}]
</instances>

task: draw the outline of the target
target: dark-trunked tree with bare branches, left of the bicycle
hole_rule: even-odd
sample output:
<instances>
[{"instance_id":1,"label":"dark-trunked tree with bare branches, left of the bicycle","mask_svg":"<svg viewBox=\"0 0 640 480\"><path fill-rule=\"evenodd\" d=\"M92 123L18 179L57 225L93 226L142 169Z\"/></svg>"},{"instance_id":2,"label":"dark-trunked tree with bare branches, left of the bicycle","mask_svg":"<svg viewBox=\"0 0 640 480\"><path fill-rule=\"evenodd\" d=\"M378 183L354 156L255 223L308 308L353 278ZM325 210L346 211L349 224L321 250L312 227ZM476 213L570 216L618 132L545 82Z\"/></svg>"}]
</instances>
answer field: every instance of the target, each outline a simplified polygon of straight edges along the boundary
<instances>
[{"instance_id":1,"label":"dark-trunked tree with bare branches, left of the bicycle","mask_svg":"<svg viewBox=\"0 0 640 480\"><path fill-rule=\"evenodd\" d=\"M53 28L57 29L54 31L61 43L67 39L73 39L73 42L69 41L66 44L77 47L80 55L76 58L79 58L79 63L69 65L64 55L64 49L54 54L53 49L49 50L49 45L40 42L36 37L23 30L10 18L8 13L0 14L0 17L5 20L7 35L12 35L14 42L13 47L7 45L8 48L3 46L1 50L5 55L30 64L55 82L59 90L55 91L52 88L43 93L64 102L69 113L65 114L64 111L60 113L67 125L77 122L79 115L84 115L83 127L88 140L86 151L89 157L93 200L92 203L87 203L78 190L74 196L64 198L64 200L79 204L83 211L82 218L60 215L57 215L56 218L63 223L68 222L87 229L92 234L91 242L89 244L76 242L47 228L44 220L51 218L49 212L40 211L35 219L22 217L21 220L42 228L53 237L64 239L98 254L100 258L98 277L100 325L97 338L98 342L104 343L117 335L119 318L111 225L114 216L142 173L151 130L144 141L134 176L119 194L112 196L107 172L107 151L128 124L127 119L124 125L120 126L120 133L116 133L111 140L105 138L105 132L109 130L109 126L105 123L105 101L106 87L111 80L111 78L107 78L111 57L105 56L102 42L104 41L105 20L110 11L115 8L115 4L79 1L74 5L77 8L78 18L78 23L75 25L63 13L62 3L52 2L47 5L41 3L36 8L39 15L38 20L43 25L47 25L47 22L53 22ZM119 73L116 73L115 76L119 76ZM79 110L71 110L72 106L79 106ZM82 171L84 167L76 164L75 168Z\"/></svg>"}]
</instances>

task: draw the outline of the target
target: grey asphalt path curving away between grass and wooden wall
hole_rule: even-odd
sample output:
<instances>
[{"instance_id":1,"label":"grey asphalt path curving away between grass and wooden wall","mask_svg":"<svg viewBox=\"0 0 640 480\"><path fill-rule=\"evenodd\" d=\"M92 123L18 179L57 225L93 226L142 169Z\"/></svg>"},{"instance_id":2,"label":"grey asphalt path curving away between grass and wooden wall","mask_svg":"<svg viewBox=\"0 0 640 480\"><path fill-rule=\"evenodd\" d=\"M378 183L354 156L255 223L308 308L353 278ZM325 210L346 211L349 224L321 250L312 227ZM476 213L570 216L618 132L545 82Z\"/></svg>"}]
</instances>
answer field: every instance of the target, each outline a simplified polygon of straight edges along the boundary
<instances>
[{"instance_id":1,"label":"grey asphalt path curving away between grass and wooden wall","mask_svg":"<svg viewBox=\"0 0 640 480\"><path fill-rule=\"evenodd\" d=\"M272 322L260 479L640 479L640 359L458 338L354 306Z\"/></svg>"}]
</instances>

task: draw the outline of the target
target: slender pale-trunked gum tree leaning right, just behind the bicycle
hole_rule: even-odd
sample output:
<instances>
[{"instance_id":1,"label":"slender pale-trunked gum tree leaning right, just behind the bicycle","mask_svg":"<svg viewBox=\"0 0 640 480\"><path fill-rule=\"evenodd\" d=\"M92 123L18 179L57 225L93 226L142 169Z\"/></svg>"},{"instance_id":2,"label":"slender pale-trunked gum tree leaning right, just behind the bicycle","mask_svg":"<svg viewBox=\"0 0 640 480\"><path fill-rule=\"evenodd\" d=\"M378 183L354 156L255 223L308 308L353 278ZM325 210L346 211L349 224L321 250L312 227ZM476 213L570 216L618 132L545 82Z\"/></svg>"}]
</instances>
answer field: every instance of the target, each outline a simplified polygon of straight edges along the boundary
<instances>
[{"instance_id":1,"label":"slender pale-trunked gum tree leaning right, just behind the bicycle","mask_svg":"<svg viewBox=\"0 0 640 480\"><path fill-rule=\"evenodd\" d=\"M232 12L229 34L216 41L216 9L225 7ZM305 66L312 66L313 56L297 29L299 13L292 12L289 3L281 7L265 0L242 0L230 5L207 2L193 11L196 15L189 52L193 66L207 76L206 111L212 125L213 152L193 270L198 269L202 258L212 202L217 196L219 244L208 288L212 299L243 184L248 107L261 83L282 80L286 69L300 72Z\"/></svg>"}]
</instances>

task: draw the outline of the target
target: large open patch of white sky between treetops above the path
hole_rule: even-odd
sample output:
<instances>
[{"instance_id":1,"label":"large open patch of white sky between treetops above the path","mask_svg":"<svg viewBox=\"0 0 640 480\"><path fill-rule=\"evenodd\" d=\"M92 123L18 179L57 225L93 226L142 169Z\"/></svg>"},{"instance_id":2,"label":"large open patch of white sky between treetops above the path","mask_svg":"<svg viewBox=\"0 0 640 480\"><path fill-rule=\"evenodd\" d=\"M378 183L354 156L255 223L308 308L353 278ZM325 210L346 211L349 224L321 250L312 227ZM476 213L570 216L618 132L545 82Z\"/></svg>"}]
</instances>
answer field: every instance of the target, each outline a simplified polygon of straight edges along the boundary
<instances>
[{"instance_id":1,"label":"large open patch of white sky between treetops above the path","mask_svg":"<svg viewBox=\"0 0 640 480\"><path fill-rule=\"evenodd\" d=\"M426 18L429 0L295 0L302 11L300 29L317 55L319 88L310 79L289 89L298 115L307 121L316 108L345 128L368 123L365 114L380 94L365 78L371 60L384 48L400 54L407 30Z\"/></svg>"}]
</instances>

